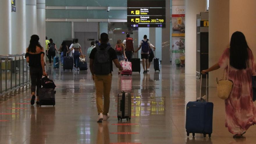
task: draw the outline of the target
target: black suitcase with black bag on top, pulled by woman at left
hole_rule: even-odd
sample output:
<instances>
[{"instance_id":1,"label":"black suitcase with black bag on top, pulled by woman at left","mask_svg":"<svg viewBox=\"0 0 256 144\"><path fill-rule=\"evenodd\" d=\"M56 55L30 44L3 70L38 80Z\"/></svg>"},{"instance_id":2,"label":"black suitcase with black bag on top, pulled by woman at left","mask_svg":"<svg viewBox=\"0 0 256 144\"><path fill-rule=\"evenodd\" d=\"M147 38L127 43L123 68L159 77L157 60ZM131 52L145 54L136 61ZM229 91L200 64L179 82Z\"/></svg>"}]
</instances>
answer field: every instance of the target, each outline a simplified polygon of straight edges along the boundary
<instances>
[{"instance_id":1,"label":"black suitcase with black bag on top, pulled by woman at left","mask_svg":"<svg viewBox=\"0 0 256 144\"><path fill-rule=\"evenodd\" d=\"M55 105L55 93L54 88L56 85L49 79L49 76L41 79L42 88L39 89L39 105Z\"/></svg>"}]
</instances>

